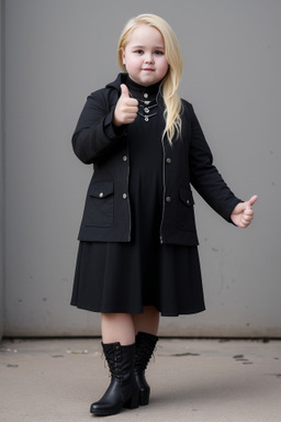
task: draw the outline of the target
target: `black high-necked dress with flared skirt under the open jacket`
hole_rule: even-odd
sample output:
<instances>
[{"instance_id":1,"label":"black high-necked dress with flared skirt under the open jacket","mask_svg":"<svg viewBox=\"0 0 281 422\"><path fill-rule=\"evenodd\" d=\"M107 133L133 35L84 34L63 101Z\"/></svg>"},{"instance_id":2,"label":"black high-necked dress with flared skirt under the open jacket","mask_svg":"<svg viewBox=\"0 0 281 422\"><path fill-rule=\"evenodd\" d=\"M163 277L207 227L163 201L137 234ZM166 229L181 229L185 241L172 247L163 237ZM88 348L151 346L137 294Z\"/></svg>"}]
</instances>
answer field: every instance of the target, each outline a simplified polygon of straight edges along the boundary
<instances>
[{"instance_id":1,"label":"black high-necked dress with flared skirt under the open jacket","mask_svg":"<svg viewBox=\"0 0 281 422\"><path fill-rule=\"evenodd\" d=\"M139 101L139 114L127 126L132 240L80 242L71 304L124 313L142 313L144 306L154 306L165 316L201 312L205 307L198 247L164 245L159 240L164 193L159 85L145 88L128 79L127 87Z\"/></svg>"}]
</instances>

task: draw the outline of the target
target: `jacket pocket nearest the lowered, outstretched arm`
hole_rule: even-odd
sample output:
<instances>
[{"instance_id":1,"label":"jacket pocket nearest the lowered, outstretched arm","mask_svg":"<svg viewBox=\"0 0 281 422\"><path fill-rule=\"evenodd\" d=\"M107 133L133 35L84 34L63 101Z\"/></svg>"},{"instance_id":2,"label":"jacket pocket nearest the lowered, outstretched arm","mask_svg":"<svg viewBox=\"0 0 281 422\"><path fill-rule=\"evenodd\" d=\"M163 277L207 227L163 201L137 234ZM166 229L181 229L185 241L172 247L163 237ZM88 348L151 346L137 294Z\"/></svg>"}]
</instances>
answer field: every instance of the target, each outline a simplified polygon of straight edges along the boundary
<instances>
[{"instance_id":1,"label":"jacket pocket nearest the lowered, outstretched arm","mask_svg":"<svg viewBox=\"0 0 281 422\"><path fill-rule=\"evenodd\" d=\"M192 191L188 188L180 188L178 201L178 227L180 230L194 230L194 199Z\"/></svg>"}]
</instances>

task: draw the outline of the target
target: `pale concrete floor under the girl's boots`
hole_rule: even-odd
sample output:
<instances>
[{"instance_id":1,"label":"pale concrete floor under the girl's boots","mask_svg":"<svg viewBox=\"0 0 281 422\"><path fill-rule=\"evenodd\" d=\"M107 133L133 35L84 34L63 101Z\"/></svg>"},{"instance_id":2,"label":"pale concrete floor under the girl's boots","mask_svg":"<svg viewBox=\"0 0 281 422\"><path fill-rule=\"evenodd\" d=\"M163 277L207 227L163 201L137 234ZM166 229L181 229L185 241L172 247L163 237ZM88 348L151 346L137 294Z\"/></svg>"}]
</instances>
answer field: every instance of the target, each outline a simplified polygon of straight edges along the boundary
<instances>
[{"instance_id":1,"label":"pale concrete floor under the girl's boots","mask_svg":"<svg viewBox=\"0 0 281 422\"><path fill-rule=\"evenodd\" d=\"M148 407L106 421L280 422L281 342L160 338ZM83 422L110 381L99 338L4 340L1 422Z\"/></svg>"}]
</instances>

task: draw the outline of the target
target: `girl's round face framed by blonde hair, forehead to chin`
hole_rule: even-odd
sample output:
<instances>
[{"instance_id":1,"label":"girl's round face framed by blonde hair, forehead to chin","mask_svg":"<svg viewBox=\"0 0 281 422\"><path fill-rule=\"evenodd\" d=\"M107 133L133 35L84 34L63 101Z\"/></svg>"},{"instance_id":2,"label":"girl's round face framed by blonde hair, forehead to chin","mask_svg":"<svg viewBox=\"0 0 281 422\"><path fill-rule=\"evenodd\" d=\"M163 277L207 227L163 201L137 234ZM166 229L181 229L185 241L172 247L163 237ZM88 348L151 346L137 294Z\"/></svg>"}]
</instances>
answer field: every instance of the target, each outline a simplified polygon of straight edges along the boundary
<instances>
[{"instance_id":1,"label":"girl's round face framed by blonde hair, forehead to chin","mask_svg":"<svg viewBox=\"0 0 281 422\"><path fill-rule=\"evenodd\" d=\"M162 35L148 25L133 30L122 58L131 79L145 87L159 82L169 68Z\"/></svg>"}]
</instances>

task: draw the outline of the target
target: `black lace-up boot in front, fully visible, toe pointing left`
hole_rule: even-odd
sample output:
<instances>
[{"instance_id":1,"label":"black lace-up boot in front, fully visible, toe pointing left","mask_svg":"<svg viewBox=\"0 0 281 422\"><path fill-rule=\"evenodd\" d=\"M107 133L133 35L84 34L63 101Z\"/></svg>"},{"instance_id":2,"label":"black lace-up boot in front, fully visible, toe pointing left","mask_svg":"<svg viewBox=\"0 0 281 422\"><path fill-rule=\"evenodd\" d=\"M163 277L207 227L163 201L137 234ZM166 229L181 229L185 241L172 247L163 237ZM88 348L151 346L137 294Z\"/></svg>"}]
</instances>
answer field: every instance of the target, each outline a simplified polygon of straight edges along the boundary
<instances>
[{"instance_id":1,"label":"black lace-up boot in front, fully visible, toe pointing left","mask_svg":"<svg viewBox=\"0 0 281 422\"><path fill-rule=\"evenodd\" d=\"M101 400L91 404L90 412L105 417L119 413L122 408L136 409L139 391L134 374L135 344L102 343L102 347L111 371L111 384Z\"/></svg>"}]
</instances>

